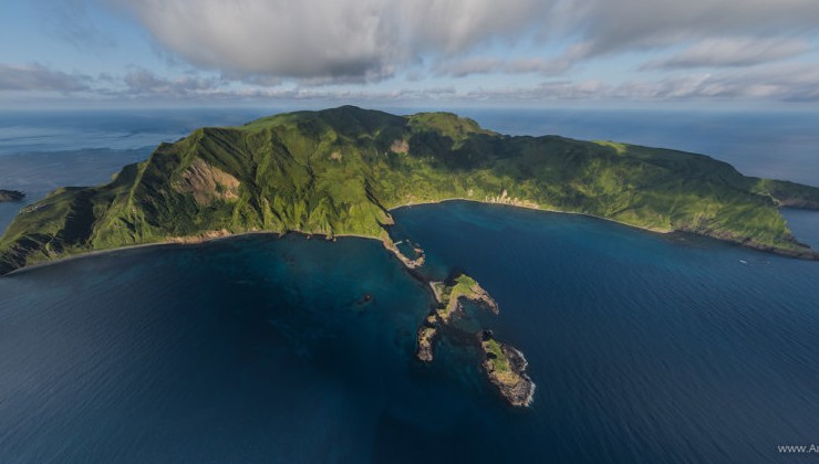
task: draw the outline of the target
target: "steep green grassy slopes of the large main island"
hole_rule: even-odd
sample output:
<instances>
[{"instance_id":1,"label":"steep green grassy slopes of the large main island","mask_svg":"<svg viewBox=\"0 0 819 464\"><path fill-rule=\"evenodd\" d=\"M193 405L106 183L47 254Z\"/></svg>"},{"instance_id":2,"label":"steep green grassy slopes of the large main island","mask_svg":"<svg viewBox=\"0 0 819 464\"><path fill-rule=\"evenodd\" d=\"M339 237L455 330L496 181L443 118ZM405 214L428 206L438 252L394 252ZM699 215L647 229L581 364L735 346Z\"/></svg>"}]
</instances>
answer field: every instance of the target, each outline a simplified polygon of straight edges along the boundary
<instances>
[{"instance_id":1,"label":"steep green grassy slopes of the large main island","mask_svg":"<svg viewBox=\"0 0 819 464\"><path fill-rule=\"evenodd\" d=\"M238 193L220 196L217 183L212 201L197 201L180 187L195 161L236 178ZM805 256L812 254L777 205L819 208L817 188L747 178L702 155L509 137L446 113L341 107L197 129L108 184L56 190L0 239L0 274L209 231L377 238L390 209L447 198L537 204Z\"/></svg>"}]
</instances>

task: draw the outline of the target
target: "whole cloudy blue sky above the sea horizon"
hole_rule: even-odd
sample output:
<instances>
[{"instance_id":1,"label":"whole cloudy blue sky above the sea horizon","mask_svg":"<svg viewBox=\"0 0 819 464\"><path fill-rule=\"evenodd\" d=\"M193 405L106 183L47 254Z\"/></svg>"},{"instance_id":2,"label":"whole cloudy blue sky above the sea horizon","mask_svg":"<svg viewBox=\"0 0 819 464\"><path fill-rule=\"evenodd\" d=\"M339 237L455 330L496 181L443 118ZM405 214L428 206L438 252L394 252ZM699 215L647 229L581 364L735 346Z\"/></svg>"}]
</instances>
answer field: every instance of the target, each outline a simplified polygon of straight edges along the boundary
<instances>
[{"instance_id":1,"label":"whole cloudy blue sky above the sea horizon","mask_svg":"<svg viewBox=\"0 0 819 464\"><path fill-rule=\"evenodd\" d=\"M819 108L817 0L3 0L0 108Z\"/></svg>"}]
</instances>

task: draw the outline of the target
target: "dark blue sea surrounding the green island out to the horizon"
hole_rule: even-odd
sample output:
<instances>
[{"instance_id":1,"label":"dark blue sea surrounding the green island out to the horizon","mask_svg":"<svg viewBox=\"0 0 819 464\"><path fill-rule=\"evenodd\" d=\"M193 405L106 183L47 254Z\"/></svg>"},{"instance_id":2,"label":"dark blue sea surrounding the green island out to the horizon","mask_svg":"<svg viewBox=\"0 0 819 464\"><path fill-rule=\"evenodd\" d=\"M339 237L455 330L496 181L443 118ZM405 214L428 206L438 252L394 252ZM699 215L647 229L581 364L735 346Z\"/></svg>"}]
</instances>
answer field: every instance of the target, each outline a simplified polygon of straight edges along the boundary
<instances>
[{"instance_id":1,"label":"dark blue sea surrounding the green island out to the horizon","mask_svg":"<svg viewBox=\"0 0 819 464\"><path fill-rule=\"evenodd\" d=\"M102 183L160 141L272 113L0 113L0 189ZM459 113L819 186L818 113ZM0 230L24 204L0 205ZM819 212L784 214L819 247ZM465 272L500 308L466 305L429 365L433 295L376 241L245 235L0 277L0 463L816 462L819 263L505 205L394 215L424 276ZM479 328L526 355L530 408L484 377Z\"/></svg>"}]
</instances>

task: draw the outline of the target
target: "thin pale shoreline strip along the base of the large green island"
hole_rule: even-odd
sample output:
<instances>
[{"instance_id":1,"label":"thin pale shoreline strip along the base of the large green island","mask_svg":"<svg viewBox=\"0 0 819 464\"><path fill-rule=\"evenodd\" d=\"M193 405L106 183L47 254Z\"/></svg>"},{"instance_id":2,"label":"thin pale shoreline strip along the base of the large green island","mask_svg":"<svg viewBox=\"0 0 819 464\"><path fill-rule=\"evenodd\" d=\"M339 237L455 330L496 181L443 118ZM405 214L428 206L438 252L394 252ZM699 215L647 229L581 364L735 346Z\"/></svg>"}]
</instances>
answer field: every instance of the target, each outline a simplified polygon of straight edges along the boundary
<instances>
[{"instance_id":1,"label":"thin pale shoreline strip along the base of the large green island","mask_svg":"<svg viewBox=\"0 0 819 464\"><path fill-rule=\"evenodd\" d=\"M761 253L773 253L773 254L776 254L778 256L785 256L785 257L791 257L791 259L800 259L800 260L806 260L806 261L819 261L819 252L813 251L812 249L810 249L810 253L811 253L810 255L805 255L805 254L799 254L798 252L794 252L794 251L789 251L789 250L785 250L785 249L777 249L777 247L767 246L767 245L755 246L755 245L749 244L749 243L746 243L746 242L735 242L735 241L724 240L724 239L719 239L719 238L712 236L712 235L702 235L702 234L697 234L697 233L690 232L690 231L683 231L683 230L665 230L665 229L656 229L656 228L645 228L645 226L641 226L641 225L629 224L629 223L625 223L625 222L622 222L622 221L618 221L615 219L603 218L603 217L599 217L599 215L594 215L594 214L589 214L589 213L583 213L583 212L561 211L561 210L554 210L554 209L541 208L541 207L532 207L532 205L526 205L526 204L510 204L510 203L500 203L500 202L489 202L489 201L481 201L481 200L475 200L475 199L468 199L468 198L459 198L459 197L445 198L445 199L440 199L440 200L429 200L429 201L419 201L419 202L413 202L413 203L404 203L404 204L398 204L398 205L395 205L395 207L392 207L392 208L386 208L386 211L387 212L393 212L393 211L400 210L402 208L421 207L421 205L425 205L425 204L439 204L439 203L453 202L453 201L467 201L467 202L479 203L479 204L497 204L497 205L502 205L502 207L508 207L508 208L521 208L521 209L527 209L527 210L531 210L531 211L541 211L541 212L556 213L556 214L581 215L581 217L585 217L585 218L591 218L591 219L598 219L598 220L602 220L602 221L607 221L607 222L612 222L612 223L624 225L624 226L628 226L628 228L631 228L631 229L635 229L635 230L639 230L639 231L645 231L645 232L651 232L651 233L659 233L659 234L662 234L662 235L670 235L670 234L673 234L673 233L685 233L685 234L692 234L692 235L695 235L695 236L702 236L702 238L713 239L713 240L716 240L718 242L723 242L723 243L727 243L727 244L733 244L733 245L736 245L736 246L747 247L747 249L755 250L755 251L758 251L758 252L761 252ZM386 231L386 230L387 229L384 229L384 231ZM210 231L210 232L216 232L216 231ZM13 271L4 274L4 275L0 275L0 278L6 277L6 276L10 276L10 275L14 275L14 274L18 274L18 273L28 271L28 270L34 270L34 268L39 268L39 267L43 267L43 266L49 266L49 265L52 265L52 264L62 263L62 262L65 262L65 261L69 261L69 260L75 260L75 259L83 257L83 256L94 256L94 255L100 255L100 254L104 254L104 253L115 253L115 252L124 251L124 250L142 249L142 247L148 247L148 246L166 246L166 245L196 245L196 244L212 242L212 241L216 241L216 240L225 240L225 239L231 239L231 238L239 238L239 236L243 236L243 235L257 235L257 234L278 234L281 238L281 236L287 235L288 233L298 233L298 234L301 234L301 235L305 235L308 238L313 236L313 235L319 235L319 236L321 236L321 238L323 238L324 240L328 240L328 241L332 241L334 238L356 238L356 239L375 240L375 241L382 242L384 244L384 247L387 251L390 251L391 253L393 253L394 255L396 255L396 257L398 259L398 261L401 261L406 267L409 267L404 262L405 261L404 259L406 259L406 257L404 256L404 259L402 259L403 255L398 255L401 252L397 251L397 249L396 250L392 250L391 247L386 246L386 243L384 242L383 235L375 236L375 235L364 235L364 234L355 234L355 233L340 233L340 234L333 234L333 235L325 235L325 234L320 233L320 232L304 232L304 231L301 231L301 230L290 230L290 231L284 231L284 232L282 232L282 231L272 231L271 230L271 231L246 231L246 232L235 232L235 233L228 232L226 234L218 234L218 235L214 235L214 236L204 236L204 235L208 234L208 232L203 232L203 234L200 234L200 235L188 235L188 236L180 236L180 238L172 238L172 239L167 239L167 240L160 241L160 242L137 243L137 244L133 244L133 245L116 246L116 247L113 247L113 249L105 249L105 250L91 250L91 251L83 252L83 253L72 254L72 255L68 255L68 256L63 256L63 257L58 257L58 259L54 259L54 260L43 261L43 262L40 262L40 263L35 263L35 264L31 264L31 265L25 265L25 266L22 266L22 267L18 267L18 268L15 268L15 270L13 270ZM387 232L387 236L388 236L388 232ZM396 254L396 251L397 251L397 254ZM409 267L409 268L412 270L414 267Z\"/></svg>"}]
</instances>

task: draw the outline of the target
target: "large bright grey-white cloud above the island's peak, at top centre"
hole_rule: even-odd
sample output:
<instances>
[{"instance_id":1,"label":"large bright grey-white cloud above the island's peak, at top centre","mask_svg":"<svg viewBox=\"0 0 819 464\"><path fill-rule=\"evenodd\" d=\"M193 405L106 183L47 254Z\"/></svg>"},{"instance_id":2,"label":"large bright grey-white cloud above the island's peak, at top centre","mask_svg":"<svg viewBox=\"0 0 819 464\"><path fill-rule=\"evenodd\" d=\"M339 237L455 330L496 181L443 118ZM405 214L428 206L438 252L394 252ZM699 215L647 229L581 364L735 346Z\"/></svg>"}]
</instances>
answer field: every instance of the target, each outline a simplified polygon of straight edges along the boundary
<instances>
[{"instance_id":1,"label":"large bright grey-white cloud above the island's peak, at top centre","mask_svg":"<svg viewBox=\"0 0 819 464\"><path fill-rule=\"evenodd\" d=\"M392 76L424 54L450 56L538 25L551 0L108 0L167 50L231 74ZM557 1L557 0L554 0Z\"/></svg>"}]
</instances>

